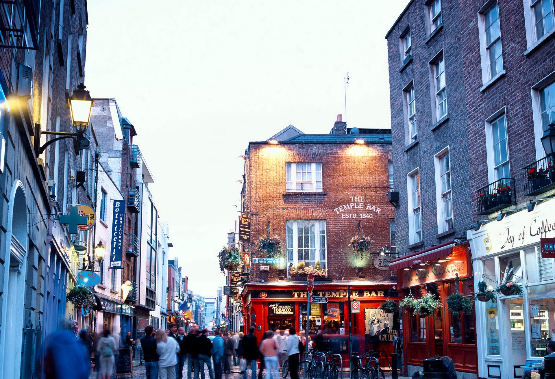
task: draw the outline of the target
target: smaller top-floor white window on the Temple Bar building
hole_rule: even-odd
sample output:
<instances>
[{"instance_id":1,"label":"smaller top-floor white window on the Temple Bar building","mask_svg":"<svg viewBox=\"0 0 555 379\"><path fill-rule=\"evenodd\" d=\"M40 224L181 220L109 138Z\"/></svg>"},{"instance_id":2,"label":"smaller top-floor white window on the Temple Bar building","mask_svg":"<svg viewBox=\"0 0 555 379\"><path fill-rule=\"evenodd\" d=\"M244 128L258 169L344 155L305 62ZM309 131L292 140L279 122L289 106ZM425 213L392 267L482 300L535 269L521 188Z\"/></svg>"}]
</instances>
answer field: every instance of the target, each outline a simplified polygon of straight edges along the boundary
<instances>
[{"instance_id":1,"label":"smaller top-floor white window on the Temple Bar building","mask_svg":"<svg viewBox=\"0 0 555 379\"><path fill-rule=\"evenodd\" d=\"M322 191L321 163L287 163L285 171L287 192Z\"/></svg>"}]
</instances>

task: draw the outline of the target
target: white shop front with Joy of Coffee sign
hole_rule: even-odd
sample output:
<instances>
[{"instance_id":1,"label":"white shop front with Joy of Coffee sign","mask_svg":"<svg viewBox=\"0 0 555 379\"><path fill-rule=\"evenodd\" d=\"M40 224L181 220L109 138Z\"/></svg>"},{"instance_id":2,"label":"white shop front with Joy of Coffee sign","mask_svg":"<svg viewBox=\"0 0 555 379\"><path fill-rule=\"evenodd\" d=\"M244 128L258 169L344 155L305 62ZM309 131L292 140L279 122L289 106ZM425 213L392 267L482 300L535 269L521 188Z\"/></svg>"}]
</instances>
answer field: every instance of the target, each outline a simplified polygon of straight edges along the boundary
<instances>
[{"instance_id":1,"label":"white shop front with Joy of Coffee sign","mask_svg":"<svg viewBox=\"0 0 555 379\"><path fill-rule=\"evenodd\" d=\"M522 294L476 303L480 377L522 376L527 360L539 361L555 335L553 258L542 256L542 239L555 237L555 200L531 212L518 211L468 231L476 280L489 290L500 283L522 286ZM545 240L544 240L545 241Z\"/></svg>"}]
</instances>

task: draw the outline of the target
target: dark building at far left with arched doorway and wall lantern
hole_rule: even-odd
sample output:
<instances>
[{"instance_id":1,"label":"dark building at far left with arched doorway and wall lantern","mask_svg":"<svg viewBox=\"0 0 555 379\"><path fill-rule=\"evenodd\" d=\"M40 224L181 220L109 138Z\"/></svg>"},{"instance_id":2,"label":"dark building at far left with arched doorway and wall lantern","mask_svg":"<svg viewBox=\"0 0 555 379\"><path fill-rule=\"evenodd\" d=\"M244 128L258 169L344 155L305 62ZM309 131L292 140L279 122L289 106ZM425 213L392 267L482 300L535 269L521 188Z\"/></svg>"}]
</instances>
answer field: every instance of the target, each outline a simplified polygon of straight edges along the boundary
<instances>
[{"instance_id":1,"label":"dark building at far left with arched doorway and wall lantern","mask_svg":"<svg viewBox=\"0 0 555 379\"><path fill-rule=\"evenodd\" d=\"M0 377L27 378L40 375L34 356L46 336L78 318L65 295L83 261L70 247L92 236L66 236L53 218L68 204L92 204L90 171L86 190L76 174L94 150L79 152L72 138L38 151L56 137L39 131L75 132L67 98L84 82L87 3L16 1L0 18Z\"/></svg>"}]
</instances>

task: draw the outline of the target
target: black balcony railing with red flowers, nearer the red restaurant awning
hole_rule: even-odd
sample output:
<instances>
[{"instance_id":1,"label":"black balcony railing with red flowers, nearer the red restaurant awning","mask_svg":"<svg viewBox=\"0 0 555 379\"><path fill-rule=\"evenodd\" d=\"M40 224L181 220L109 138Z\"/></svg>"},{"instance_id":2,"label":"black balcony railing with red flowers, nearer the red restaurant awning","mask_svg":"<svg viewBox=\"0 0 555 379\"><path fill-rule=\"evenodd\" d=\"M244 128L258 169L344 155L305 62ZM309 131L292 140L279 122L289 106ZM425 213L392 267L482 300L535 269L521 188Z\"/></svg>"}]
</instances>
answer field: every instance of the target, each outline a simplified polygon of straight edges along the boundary
<instances>
[{"instance_id":1,"label":"black balcony railing with red flowers, nearer the red restaurant awning","mask_svg":"<svg viewBox=\"0 0 555 379\"><path fill-rule=\"evenodd\" d=\"M487 215L517 203L513 178L502 178L476 191L478 214Z\"/></svg>"}]
</instances>

